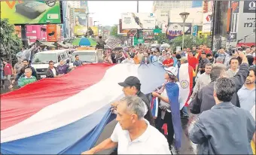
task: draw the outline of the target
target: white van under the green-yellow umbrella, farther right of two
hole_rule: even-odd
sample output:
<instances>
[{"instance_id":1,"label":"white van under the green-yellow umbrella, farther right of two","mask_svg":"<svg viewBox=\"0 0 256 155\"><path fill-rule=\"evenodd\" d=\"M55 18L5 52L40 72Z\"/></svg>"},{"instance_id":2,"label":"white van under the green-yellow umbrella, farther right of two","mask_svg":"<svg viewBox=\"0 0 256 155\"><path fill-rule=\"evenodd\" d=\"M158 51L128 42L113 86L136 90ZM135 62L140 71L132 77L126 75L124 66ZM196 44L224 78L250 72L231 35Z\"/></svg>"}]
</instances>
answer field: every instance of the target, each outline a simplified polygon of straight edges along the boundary
<instances>
[{"instance_id":1,"label":"white van under the green-yellow umbrella, farther right of two","mask_svg":"<svg viewBox=\"0 0 256 155\"><path fill-rule=\"evenodd\" d=\"M72 59L69 65L73 65L75 62L75 56L78 55L79 59L83 63L100 63L103 62L102 54L97 50L75 50L72 53Z\"/></svg>"}]
</instances>

